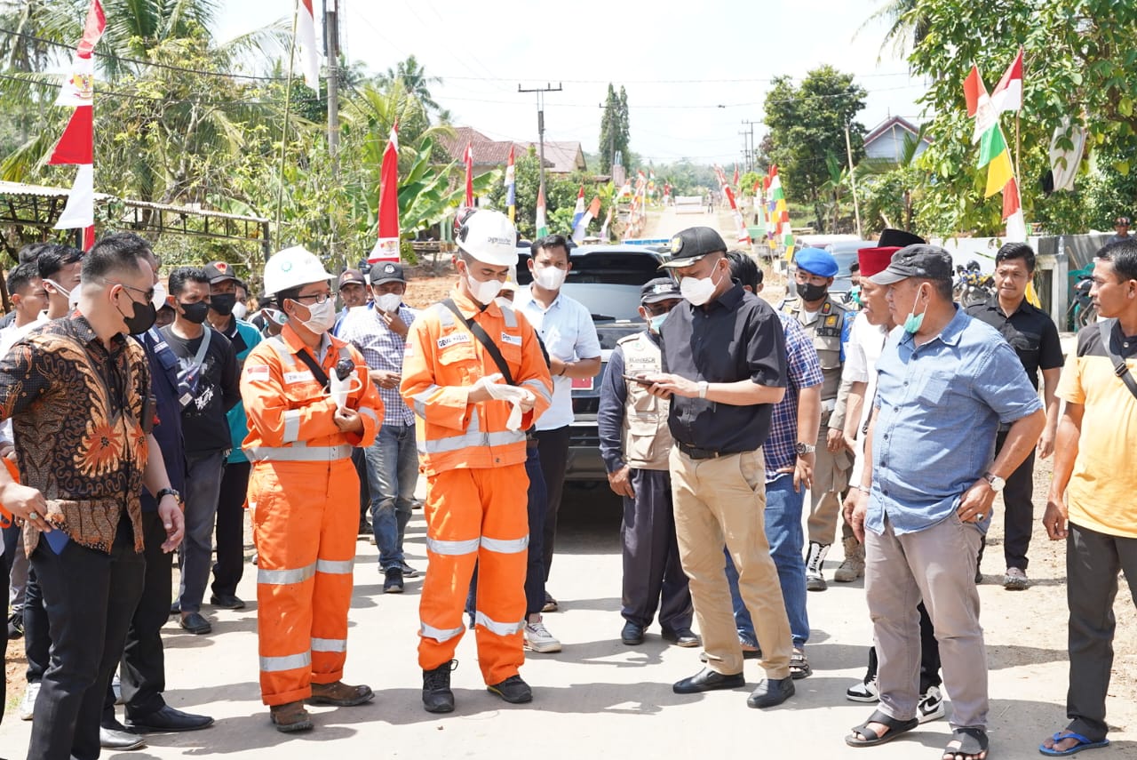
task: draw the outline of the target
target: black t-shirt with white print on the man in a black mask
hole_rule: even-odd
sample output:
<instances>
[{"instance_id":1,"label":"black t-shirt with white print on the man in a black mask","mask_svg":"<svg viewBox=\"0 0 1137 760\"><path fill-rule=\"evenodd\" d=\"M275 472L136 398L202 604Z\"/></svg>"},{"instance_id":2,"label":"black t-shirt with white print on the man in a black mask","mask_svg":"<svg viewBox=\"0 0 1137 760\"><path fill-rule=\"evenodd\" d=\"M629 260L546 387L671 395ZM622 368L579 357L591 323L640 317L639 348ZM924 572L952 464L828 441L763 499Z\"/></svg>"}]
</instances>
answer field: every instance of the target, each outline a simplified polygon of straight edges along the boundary
<instances>
[{"instance_id":1,"label":"black t-shirt with white print on the man in a black mask","mask_svg":"<svg viewBox=\"0 0 1137 760\"><path fill-rule=\"evenodd\" d=\"M229 338L210 331L201 365L197 354L202 338L186 340L174 334L173 325L160 330L177 356L179 397L182 400L182 435L186 454L226 451L233 446L225 412L241 400L236 354Z\"/></svg>"}]
</instances>

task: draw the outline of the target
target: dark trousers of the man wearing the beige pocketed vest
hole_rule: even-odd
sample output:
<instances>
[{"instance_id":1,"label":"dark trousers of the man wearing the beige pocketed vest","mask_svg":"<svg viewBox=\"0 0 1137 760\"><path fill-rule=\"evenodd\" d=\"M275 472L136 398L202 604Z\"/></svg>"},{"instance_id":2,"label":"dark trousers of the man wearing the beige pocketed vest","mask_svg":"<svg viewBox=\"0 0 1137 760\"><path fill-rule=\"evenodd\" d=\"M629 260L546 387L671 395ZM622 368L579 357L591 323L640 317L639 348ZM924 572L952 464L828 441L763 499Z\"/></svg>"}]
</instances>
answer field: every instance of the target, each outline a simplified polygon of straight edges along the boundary
<instances>
[{"instance_id":1,"label":"dark trousers of the man wearing the beige pocketed vest","mask_svg":"<svg viewBox=\"0 0 1137 760\"><path fill-rule=\"evenodd\" d=\"M624 520L620 524L624 564L620 614L646 628L658 610L664 630L688 629L695 608L679 562L671 473L632 470L631 481L636 498L624 496Z\"/></svg>"}]
</instances>

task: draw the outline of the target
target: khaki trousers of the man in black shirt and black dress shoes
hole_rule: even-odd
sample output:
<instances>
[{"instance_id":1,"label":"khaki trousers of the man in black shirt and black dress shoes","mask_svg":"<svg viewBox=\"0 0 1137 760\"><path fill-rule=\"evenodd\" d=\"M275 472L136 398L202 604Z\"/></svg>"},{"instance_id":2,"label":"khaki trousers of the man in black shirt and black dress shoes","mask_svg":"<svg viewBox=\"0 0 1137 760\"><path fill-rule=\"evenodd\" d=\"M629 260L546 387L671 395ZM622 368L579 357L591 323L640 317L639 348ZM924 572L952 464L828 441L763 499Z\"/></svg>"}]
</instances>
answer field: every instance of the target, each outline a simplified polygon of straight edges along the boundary
<instances>
[{"instance_id":1,"label":"khaki trousers of the man in black shirt and black dress shoes","mask_svg":"<svg viewBox=\"0 0 1137 760\"><path fill-rule=\"evenodd\" d=\"M722 564L725 544L738 569L738 589L755 622L766 677L788 677L792 643L763 524L762 449L692 460L675 447L670 465L679 559L690 579L707 664L724 675L742 672L742 649Z\"/></svg>"}]
</instances>

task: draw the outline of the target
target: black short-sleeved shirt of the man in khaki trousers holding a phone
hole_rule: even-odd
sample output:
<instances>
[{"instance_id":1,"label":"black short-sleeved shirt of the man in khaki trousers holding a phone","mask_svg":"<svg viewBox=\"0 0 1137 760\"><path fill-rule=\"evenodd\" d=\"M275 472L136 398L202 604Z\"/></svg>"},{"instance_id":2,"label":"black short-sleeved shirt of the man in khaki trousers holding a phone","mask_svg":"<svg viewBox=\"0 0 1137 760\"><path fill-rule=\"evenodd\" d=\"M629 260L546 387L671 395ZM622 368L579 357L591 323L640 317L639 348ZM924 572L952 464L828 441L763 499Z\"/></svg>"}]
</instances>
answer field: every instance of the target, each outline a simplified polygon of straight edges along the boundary
<instances>
[{"instance_id":1,"label":"black short-sleeved shirt of the man in khaki trousers holding a phone","mask_svg":"<svg viewBox=\"0 0 1137 760\"><path fill-rule=\"evenodd\" d=\"M706 306L680 301L659 330L663 371L688 380L786 387L786 333L774 309L738 283ZM683 444L750 452L770 435L773 404L733 406L672 396L667 427Z\"/></svg>"}]
</instances>

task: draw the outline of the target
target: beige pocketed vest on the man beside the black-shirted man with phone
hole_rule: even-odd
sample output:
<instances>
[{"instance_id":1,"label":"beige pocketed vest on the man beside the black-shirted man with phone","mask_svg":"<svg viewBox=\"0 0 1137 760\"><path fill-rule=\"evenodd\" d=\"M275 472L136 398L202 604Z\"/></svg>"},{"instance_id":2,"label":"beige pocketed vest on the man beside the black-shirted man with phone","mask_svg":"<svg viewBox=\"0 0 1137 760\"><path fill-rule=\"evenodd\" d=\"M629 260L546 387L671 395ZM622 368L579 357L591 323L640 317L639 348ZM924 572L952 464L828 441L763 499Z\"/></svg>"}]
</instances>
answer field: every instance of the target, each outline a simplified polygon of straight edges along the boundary
<instances>
[{"instance_id":1,"label":"beige pocketed vest on the man beside the black-shirted man with phone","mask_svg":"<svg viewBox=\"0 0 1137 760\"><path fill-rule=\"evenodd\" d=\"M663 371L659 347L646 333L638 332L616 342L624 352L626 374ZM666 470L672 445L667 429L671 403L647 393L647 386L626 381L624 385L628 387L623 423L624 461L637 470Z\"/></svg>"}]
</instances>

